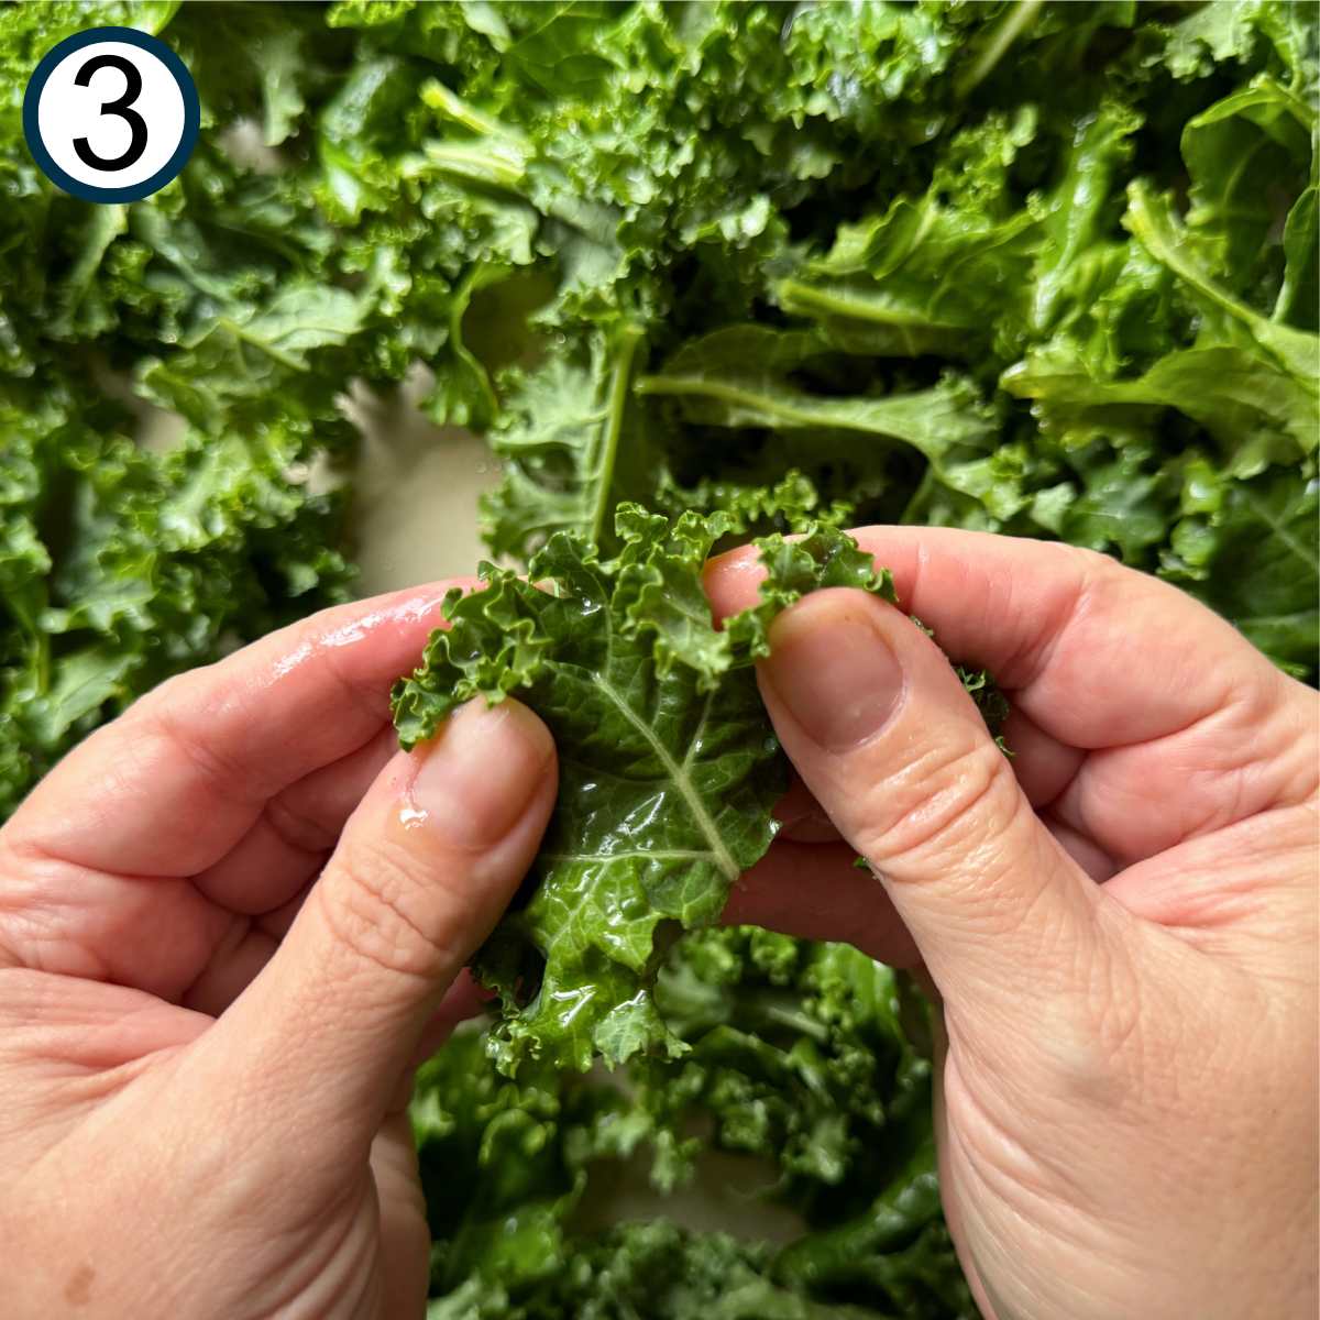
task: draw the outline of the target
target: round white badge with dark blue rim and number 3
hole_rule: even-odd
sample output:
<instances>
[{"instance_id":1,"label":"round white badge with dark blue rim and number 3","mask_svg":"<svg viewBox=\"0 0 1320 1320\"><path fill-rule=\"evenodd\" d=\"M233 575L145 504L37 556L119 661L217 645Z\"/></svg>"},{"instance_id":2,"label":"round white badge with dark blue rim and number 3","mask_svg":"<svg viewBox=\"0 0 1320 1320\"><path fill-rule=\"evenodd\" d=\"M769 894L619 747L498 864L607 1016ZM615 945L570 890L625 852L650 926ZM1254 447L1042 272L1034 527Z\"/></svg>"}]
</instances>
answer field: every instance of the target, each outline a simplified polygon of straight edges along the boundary
<instances>
[{"instance_id":1,"label":"round white badge with dark blue rim and number 3","mask_svg":"<svg viewBox=\"0 0 1320 1320\"><path fill-rule=\"evenodd\" d=\"M66 193L136 202L187 164L202 111L183 61L133 28L88 28L37 65L22 102L28 149Z\"/></svg>"}]
</instances>

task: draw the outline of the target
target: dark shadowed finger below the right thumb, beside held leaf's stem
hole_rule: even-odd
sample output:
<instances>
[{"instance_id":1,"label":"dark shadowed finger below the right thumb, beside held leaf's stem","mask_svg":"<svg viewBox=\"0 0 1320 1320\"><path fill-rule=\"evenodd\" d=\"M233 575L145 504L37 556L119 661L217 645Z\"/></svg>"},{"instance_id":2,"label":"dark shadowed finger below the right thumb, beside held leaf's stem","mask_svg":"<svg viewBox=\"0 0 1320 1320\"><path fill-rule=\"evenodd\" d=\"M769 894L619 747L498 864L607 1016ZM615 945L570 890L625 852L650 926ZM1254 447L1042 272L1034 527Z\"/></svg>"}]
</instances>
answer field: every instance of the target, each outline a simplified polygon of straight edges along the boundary
<instances>
[{"instance_id":1,"label":"dark shadowed finger below the right thumb, beside held leaf's stem","mask_svg":"<svg viewBox=\"0 0 1320 1320\"><path fill-rule=\"evenodd\" d=\"M838 940L894 968L920 962L884 888L846 843L776 841L734 886L721 921L805 940Z\"/></svg>"}]
</instances>

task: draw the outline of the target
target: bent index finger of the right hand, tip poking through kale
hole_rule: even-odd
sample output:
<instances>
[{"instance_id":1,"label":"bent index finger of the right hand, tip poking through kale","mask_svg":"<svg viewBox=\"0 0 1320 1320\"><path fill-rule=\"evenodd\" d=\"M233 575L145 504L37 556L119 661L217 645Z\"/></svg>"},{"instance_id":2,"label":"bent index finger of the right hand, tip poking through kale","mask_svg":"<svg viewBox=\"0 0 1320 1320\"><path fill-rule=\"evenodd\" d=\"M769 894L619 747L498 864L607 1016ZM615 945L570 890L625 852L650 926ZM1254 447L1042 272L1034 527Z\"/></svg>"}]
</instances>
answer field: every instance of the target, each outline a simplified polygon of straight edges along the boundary
<instances>
[{"instance_id":1,"label":"bent index finger of the right hand, tip poking through kale","mask_svg":"<svg viewBox=\"0 0 1320 1320\"><path fill-rule=\"evenodd\" d=\"M953 528L863 527L853 536L949 656L989 669L1015 706L1072 747L1160 738L1242 685L1276 684L1274 667L1213 611L1104 554ZM755 605L763 577L751 546L713 560L706 590L717 615ZM1096 681L1113 675L1123 682Z\"/></svg>"}]
</instances>

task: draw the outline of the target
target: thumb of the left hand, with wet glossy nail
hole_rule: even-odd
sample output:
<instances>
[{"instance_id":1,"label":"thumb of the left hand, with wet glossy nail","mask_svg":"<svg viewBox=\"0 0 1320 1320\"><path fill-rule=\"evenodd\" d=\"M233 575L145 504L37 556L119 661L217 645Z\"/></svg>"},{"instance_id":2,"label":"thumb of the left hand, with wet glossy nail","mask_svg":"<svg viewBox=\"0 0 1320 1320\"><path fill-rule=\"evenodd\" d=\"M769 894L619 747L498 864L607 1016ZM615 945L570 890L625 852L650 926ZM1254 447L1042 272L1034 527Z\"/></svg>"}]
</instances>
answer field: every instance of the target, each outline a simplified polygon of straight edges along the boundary
<instances>
[{"instance_id":1,"label":"thumb of the left hand, with wet glossy nail","mask_svg":"<svg viewBox=\"0 0 1320 1320\"><path fill-rule=\"evenodd\" d=\"M524 706L473 702L400 752L354 812L280 950L206 1038L206 1081L298 1078L260 1121L370 1140L459 968L531 865L554 748ZM202 1067L202 1065L199 1065Z\"/></svg>"}]
</instances>

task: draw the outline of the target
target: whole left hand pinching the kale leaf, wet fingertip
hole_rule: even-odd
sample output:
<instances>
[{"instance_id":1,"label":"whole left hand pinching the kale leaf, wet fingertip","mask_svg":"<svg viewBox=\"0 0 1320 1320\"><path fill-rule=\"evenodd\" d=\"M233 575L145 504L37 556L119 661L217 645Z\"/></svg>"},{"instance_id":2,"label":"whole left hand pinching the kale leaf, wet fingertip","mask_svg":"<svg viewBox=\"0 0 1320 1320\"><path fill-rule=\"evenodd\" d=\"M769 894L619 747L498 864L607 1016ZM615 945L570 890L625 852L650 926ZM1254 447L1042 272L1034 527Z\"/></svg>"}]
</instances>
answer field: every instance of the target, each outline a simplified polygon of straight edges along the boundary
<instances>
[{"instance_id":1,"label":"whole left hand pinching the kale leaf, wet fingertip","mask_svg":"<svg viewBox=\"0 0 1320 1320\"><path fill-rule=\"evenodd\" d=\"M5 1320L422 1315L412 1068L556 788L516 702L397 751L446 585L164 684L0 830Z\"/></svg>"}]
</instances>

